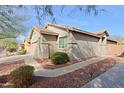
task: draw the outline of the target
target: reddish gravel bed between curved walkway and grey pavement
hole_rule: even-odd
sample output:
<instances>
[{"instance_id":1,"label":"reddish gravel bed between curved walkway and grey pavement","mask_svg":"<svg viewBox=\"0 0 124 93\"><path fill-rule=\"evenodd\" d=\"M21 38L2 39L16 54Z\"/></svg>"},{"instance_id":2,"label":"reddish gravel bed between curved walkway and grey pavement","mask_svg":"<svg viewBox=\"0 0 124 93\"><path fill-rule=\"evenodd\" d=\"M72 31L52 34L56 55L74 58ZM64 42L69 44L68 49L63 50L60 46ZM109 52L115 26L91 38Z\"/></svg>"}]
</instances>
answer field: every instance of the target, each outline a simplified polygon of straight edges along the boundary
<instances>
[{"instance_id":1,"label":"reddish gravel bed between curved walkway and grey pavement","mask_svg":"<svg viewBox=\"0 0 124 93\"><path fill-rule=\"evenodd\" d=\"M33 88L67 88L81 87L95 77L104 73L116 64L113 58L107 58L97 63L91 64L76 71L58 76L58 77L39 77L33 76L34 82L27 87ZM6 67L7 68L7 67ZM3 71L6 71L4 68ZM2 70L1 70L2 71ZM0 87L7 82L7 76L0 76ZM24 86L21 86L24 87Z\"/></svg>"}]
</instances>

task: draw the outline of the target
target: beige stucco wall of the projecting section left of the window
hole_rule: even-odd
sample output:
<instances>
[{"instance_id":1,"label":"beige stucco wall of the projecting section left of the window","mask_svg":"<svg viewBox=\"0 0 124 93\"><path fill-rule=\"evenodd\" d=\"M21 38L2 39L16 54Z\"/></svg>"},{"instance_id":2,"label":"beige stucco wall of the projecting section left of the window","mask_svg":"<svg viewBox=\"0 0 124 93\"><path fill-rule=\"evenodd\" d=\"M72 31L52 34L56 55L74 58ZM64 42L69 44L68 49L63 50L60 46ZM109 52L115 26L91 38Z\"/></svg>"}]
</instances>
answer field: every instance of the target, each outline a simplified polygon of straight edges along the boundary
<instances>
[{"instance_id":1,"label":"beige stucco wall of the projecting section left of the window","mask_svg":"<svg viewBox=\"0 0 124 93\"><path fill-rule=\"evenodd\" d=\"M47 59L57 49L57 36L40 34L34 31L31 38L30 53L38 59Z\"/></svg>"}]
</instances>

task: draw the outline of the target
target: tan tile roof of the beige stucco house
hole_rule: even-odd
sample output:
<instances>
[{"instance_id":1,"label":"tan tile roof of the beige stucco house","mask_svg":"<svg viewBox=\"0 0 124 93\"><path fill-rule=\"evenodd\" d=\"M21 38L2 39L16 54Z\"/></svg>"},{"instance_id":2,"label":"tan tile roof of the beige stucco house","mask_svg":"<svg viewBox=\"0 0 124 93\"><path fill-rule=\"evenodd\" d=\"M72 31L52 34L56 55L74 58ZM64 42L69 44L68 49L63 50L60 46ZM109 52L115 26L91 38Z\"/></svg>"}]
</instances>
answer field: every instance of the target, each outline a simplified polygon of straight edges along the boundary
<instances>
[{"instance_id":1,"label":"tan tile roof of the beige stucco house","mask_svg":"<svg viewBox=\"0 0 124 93\"><path fill-rule=\"evenodd\" d=\"M79 28L75 28L75 27L71 27L71 26L58 25L58 24L52 24L52 23L47 23L45 25L45 27L42 27L42 28L35 26L35 27L33 27L33 29L35 29L36 31L38 31L42 34L56 35L56 36L59 35L58 33L55 33L51 30L46 29L47 26L53 26L53 27L57 27L57 28L60 28L60 29L65 29L65 31L72 31L72 32L77 32L77 33L81 33L81 34L86 34L86 35L93 36L93 37L96 37L96 38L100 38L99 35L102 34L102 33L106 33L107 36L109 36L109 33L105 29L99 30L97 32L88 32L88 31L81 30ZM114 41L114 40L111 40L111 39L108 39L108 41L117 42L117 41Z\"/></svg>"}]
</instances>

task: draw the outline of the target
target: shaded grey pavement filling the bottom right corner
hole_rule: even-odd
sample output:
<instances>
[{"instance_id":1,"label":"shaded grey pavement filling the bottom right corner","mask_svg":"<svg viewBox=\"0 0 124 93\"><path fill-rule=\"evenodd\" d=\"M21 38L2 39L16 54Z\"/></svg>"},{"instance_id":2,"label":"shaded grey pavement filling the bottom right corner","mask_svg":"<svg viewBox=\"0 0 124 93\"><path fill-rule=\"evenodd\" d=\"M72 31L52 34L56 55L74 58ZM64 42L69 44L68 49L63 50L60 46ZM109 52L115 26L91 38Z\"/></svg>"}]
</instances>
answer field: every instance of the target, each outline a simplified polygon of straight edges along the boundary
<instances>
[{"instance_id":1,"label":"shaded grey pavement filling the bottom right corner","mask_svg":"<svg viewBox=\"0 0 124 93\"><path fill-rule=\"evenodd\" d=\"M124 59L82 88L124 88Z\"/></svg>"}]
</instances>

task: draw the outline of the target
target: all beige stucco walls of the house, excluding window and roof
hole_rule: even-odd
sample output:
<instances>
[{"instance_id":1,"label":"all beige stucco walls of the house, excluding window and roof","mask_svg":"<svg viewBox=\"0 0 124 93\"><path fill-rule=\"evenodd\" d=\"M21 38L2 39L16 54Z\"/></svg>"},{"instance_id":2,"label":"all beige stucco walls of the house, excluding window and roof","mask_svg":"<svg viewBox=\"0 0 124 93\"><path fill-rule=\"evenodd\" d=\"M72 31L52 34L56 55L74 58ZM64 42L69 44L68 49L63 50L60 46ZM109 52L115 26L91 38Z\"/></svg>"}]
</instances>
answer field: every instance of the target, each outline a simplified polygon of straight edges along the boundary
<instances>
[{"instance_id":1,"label":"all beige stucco walls of the house, excluding window and roof","mask_svg":"<svg viewBox=\"0 0 124 93\"><path fill-rule=\"evenodd\" d=\"M59 36L43 35L34 31L31 39L31 52L37 58L49 58L50 53L54 51L67 52L71 60L77 61L80 61L82 58L93 56L112 55L113 49L111 47L115 43L109 41L106 42L107 37L102 40L102 38L95 38L86 34L66 31L66 29L60 29L52 26L48 26L47 29L59 33ZM67 48L60 49L58 46L59 37L63 36L67 36L68 46ZM108 46L107 43L110 45ZM116 49L115 47L114 49ZM120 49L118 51L122 50Z\"/></svg>"}]
</instances>

